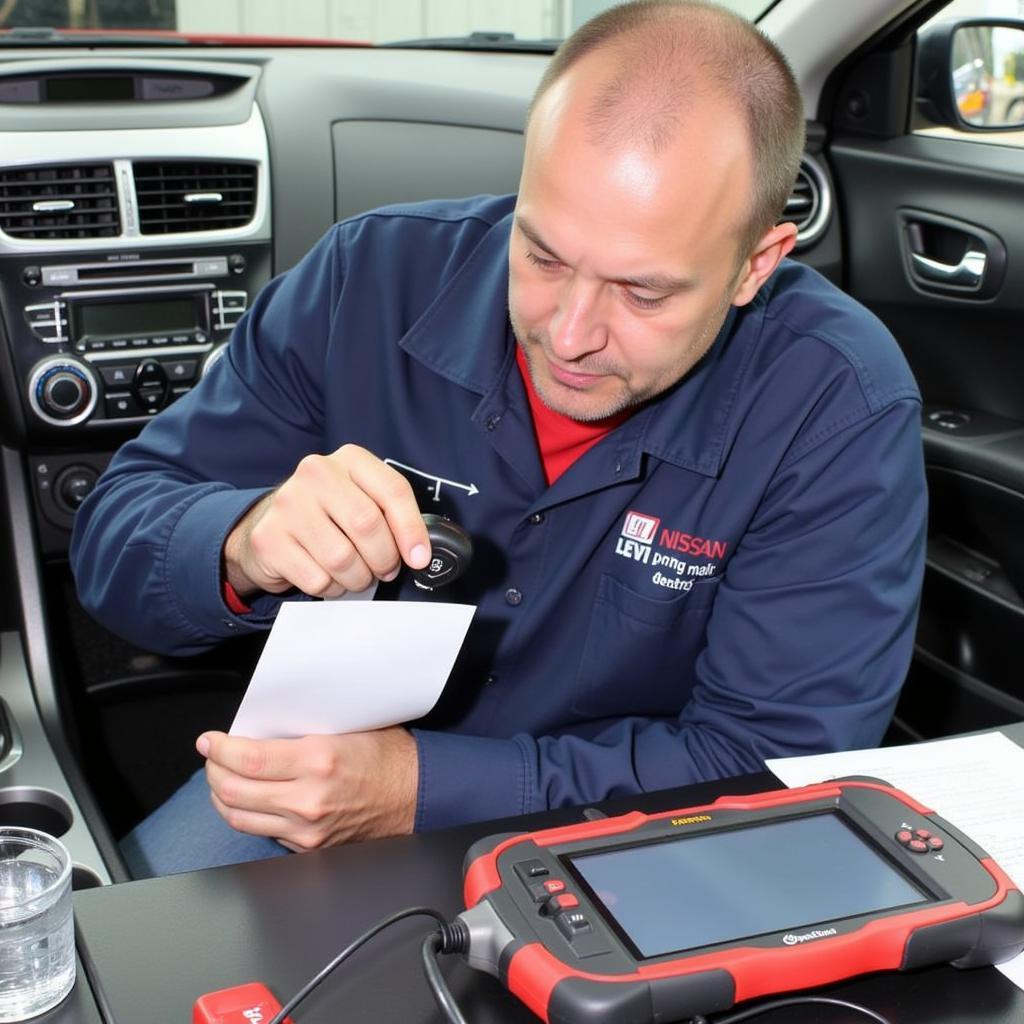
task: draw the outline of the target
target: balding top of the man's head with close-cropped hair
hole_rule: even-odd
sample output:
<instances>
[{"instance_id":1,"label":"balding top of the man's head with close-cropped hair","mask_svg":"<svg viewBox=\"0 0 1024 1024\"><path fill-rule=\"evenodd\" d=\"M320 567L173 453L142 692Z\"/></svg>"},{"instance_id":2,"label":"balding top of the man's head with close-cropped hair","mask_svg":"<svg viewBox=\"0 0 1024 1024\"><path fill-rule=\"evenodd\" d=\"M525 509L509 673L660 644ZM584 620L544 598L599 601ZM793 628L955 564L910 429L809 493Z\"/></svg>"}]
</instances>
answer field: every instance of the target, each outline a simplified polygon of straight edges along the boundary
<instances>
[{"instance_id":1,"label":"balding top of the man's head with close-cropped hair","mask_svg":"<svg viewBox=\"0 0 1024 1024\"><path fill-rule=\"evenodd\" d=\"M803 153L803 106L784 58L750 23L701 0L612 7L559 48L534 97L527 131L540 111L561 105L549 93L563 91L556 86L564 89L583 65L588 77L595 70L601 76L580 112L592 144L662 154L692 126L697 110L717 112L723 131L736 125L743 132L752 164L741 248L778 221Z\"/></svg>"}]
</instances>

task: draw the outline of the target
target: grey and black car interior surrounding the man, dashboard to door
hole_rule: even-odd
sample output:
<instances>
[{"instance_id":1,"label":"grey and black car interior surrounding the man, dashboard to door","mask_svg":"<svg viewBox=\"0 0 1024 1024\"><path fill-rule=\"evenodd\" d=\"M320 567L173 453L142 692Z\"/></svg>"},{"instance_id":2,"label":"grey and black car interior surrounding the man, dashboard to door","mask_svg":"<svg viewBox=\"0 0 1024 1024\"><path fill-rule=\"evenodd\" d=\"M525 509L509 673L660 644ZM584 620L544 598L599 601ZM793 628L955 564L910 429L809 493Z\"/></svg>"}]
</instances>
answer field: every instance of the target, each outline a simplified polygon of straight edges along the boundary
<instances>
[{"instance_id":1,"label":"grey and black car interior surrounding the man, dashboard to door","mask_svg":"<svg viewBox=\"0 0 1024 1024\"><path fill-rule=\"evenodd\" d=\"M117 840L229 725L260 640L171 658L97 625L68 564L76 508L335 221L515 191L532 90L599 5L555 4L561 26L527 39L469 4L458 34L397 42L81 6L78 28L0 7L0 823L62 836L87 887L127 879ZM886 741L1024 719L1019 5L733 6L804 96L794 258L889 327L924 396L927 574ZM116 20L134 8L163 20Z\"/></svg>"}]
</instances>

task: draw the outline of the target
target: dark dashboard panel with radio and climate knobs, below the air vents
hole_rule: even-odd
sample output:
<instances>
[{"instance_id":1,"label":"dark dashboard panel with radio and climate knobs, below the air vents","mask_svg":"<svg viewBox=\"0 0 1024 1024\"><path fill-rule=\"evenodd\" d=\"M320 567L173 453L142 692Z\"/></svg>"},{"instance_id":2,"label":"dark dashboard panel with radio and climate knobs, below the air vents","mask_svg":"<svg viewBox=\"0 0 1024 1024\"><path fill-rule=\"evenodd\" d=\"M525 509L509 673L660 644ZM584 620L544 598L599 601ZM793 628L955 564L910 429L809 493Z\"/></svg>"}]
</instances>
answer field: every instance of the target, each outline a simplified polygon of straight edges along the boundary
<instances>
[{"instance_id":1,"label":"dark dashboard panel with radio and climate knobs, below the air vents","mask_svg":"<svg viewBox=\"0 0 1024 1024\"><path fill-rule=\"evenodd\" d=\"M0 309L46 555L117 445L186 394L268 280L266 243L0 256Z\"/></svg>"}]
</instances>

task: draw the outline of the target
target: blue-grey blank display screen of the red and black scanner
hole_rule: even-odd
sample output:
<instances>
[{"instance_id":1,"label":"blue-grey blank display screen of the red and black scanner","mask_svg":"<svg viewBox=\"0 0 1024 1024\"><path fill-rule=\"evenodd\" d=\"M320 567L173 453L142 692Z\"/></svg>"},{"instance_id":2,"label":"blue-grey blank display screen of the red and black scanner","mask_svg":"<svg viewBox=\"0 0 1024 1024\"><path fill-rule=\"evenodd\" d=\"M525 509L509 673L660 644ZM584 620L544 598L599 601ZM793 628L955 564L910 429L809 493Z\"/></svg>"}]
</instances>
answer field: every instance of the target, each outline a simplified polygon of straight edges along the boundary
<instances>
[{"instance_id":1,"label":"blue-grey blank display screen of the red and black scanner","mask_svg":"<svg viewBox=\"0 0 1024 1024\"><path fill-rule=\"evenodd\" d=\"M565 859L642 958L930 899L834 813Z\"/></svg>"}]
</instances>

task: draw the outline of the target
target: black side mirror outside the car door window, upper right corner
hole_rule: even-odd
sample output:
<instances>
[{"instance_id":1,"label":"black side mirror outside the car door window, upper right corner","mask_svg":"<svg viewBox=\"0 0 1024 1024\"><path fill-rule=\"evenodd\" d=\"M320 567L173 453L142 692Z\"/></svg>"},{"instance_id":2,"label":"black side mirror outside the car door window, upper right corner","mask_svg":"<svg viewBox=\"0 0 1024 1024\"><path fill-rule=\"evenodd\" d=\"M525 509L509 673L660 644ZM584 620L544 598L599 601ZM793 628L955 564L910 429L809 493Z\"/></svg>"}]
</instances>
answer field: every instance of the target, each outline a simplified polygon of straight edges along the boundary
<instances>
[{"instance_id":1,"label":"black side mirror outside the car door window, upper right corner","mask_svg":"<svg viewBox=\"0 0 1024 1024\"><path fill-rule=\"evenodd\" d=\"M1024 20L939 22L918 35L918 110L962 131L1024 129Z\"/></svg>"}]
</instances>

